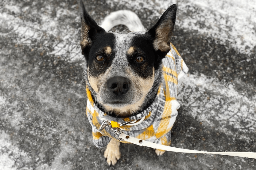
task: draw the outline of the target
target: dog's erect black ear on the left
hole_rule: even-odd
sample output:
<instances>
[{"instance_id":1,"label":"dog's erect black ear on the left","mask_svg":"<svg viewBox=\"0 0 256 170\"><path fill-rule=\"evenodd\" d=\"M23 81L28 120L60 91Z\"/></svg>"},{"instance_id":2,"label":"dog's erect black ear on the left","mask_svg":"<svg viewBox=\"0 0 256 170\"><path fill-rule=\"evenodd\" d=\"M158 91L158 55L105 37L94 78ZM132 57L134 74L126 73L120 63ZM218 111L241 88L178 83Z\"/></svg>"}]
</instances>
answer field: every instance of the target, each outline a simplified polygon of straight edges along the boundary
<instances>
[{"instance_id":1,"label":"dog's erect black ear on the left","mask_svg":"<svg viewBox=\"0 0 256 170\"><path fill-rule=\"evenodd\" d=\"M93 43L93 37L99 33L105 32L94 19L87 13L83 5L82 0L80 0L80 13L81 13L81 41L80 45L82 48L82 54L87 58L89 47Z\"/></svg>"}]
</instances>

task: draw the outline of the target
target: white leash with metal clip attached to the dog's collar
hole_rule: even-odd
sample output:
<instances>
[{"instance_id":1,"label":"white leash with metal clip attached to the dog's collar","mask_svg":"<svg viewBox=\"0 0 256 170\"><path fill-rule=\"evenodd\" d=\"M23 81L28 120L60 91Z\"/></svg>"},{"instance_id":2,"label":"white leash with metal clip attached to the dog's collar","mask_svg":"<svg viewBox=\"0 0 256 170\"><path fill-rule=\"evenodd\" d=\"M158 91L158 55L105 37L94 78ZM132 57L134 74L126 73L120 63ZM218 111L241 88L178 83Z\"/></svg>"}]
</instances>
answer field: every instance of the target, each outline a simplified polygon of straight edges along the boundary
<instances>
[{"instance_id":1,"label":"white leash with metal clip attached to the dog's collar","mask_svg":"<svg viewBox=\"0 0 256 170\"><path fill-rule=\"evenodd\" d=\"M113 133L116 139L119 141L126 141L133 143L135 145L140 146L147 146L154 149L160 149L160 150L166 150L171 152L179 152L179 153L204 153L204 154L216 154L216 155L228 155L228 156L235 156L235 157L247 157L247 158L253 158L256 159L256 152L208 152L208 151L198 151L198 150L191 150L191 149L182 149L182 148L176 148L172 146L166 146L161 145L149 141L145 141L142 139L134 138L132 136L129 136L125 134L120 128L118 127L112 127L111 122L109 122L107 119L103 121L101 124L99 131L103 130L105 127L108 127Z\"/></svg>"}]
</instances>

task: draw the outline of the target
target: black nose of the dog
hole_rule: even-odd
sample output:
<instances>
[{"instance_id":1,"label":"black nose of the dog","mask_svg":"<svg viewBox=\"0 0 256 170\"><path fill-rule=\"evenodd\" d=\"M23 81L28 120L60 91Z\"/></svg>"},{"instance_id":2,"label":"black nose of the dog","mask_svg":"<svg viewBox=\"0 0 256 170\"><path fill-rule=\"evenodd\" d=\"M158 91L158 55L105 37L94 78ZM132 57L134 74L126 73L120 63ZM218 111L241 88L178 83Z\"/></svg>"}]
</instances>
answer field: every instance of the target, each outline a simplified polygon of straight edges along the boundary
<instances>
[{"instance_id":1,"label":"black nose of the dog","mask_svg":"<svg viewBox=\"0 0 256 170\"><path fill-rule=\"evenodd\" d=\"M107 87L115 95L121 96L129 90L129 81L125 77L112 77L107 81Z\"/></svg>"}]
</instances>

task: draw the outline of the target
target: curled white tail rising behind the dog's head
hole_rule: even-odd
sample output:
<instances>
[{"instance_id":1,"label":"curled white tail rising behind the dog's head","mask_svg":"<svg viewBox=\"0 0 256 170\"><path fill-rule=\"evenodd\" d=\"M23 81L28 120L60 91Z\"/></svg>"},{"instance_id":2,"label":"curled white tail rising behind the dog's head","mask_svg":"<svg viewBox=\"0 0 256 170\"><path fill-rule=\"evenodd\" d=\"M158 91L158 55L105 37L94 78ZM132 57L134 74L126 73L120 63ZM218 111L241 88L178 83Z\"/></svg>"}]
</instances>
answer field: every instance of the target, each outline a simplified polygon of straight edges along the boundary
<instances>
[{"instance_id":1,"label":"curled white tail rising behind the dog's head","mask_svg":"<svg viewBox=\"0 0 256 170\"><path fill-rule=\"evenodd\" d=\"M146 31L138 15L129 10L119 10L104 18L101 27L106 31L117 25L125 25L132 32Z\"/></svg>"}]
</instances>

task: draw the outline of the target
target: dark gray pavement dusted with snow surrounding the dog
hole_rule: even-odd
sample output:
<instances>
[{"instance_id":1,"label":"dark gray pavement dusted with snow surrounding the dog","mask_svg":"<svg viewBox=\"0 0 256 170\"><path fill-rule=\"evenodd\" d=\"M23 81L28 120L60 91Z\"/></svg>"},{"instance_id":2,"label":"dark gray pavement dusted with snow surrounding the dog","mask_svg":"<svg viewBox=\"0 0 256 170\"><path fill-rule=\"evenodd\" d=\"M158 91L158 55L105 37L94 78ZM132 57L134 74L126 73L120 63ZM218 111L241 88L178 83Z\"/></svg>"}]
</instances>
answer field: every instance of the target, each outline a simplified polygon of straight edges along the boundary
<instances>
[{"instance_id":1,"label":"dark gray pavement dusted with snow surrounding the dog","mask_svg":"<svg viewBox=\"0 0 256 170\"><path fill-rule=\"evenodd\" d=\"M255 3L233 9L235 1L217 2L84 0L99 23L111 11L130 9L146 28L166 4L176 3L172 42L190 71L179 82L181 107L171 145L256 152ZM241 15L227 12L243 9ZM173 152L157 157L153 149L132 144L121 144L122 158L109 167L104 149L92 143L85 115L78 2L2 0L0 22L0 169L256 168L249 158Z\"/></svg>"}]
</instances>

